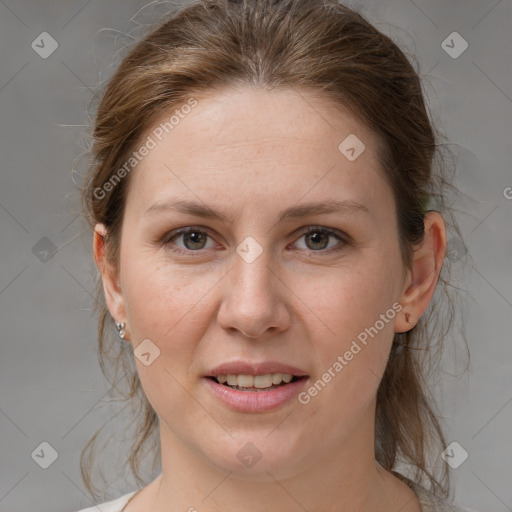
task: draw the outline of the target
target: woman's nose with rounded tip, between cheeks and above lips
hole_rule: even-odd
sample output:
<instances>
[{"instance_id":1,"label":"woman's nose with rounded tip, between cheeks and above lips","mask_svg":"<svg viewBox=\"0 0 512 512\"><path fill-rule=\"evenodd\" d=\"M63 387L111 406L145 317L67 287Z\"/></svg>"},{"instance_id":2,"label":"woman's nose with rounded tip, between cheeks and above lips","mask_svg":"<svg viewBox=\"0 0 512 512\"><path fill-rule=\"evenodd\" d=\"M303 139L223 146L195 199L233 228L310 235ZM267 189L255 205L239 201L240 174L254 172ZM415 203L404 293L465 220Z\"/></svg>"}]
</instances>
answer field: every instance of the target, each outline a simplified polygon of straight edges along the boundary
<instances>
[{"instance_id":1,"label":"woman's nose with rounded tip, between cheeks and above lips","mask_svg":"<svg viewBox=\"0 0 512 512\"><path fill-rule=\"evenodd\" d=\"M262 339L286 330L291 323L286 299L290 290L283 276L271 265L270 250L252 262L238 254L224 280L219 325L231 332Z\"/></svg>"}]
</instances>

